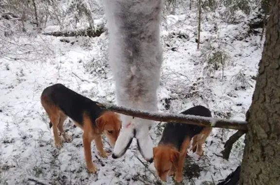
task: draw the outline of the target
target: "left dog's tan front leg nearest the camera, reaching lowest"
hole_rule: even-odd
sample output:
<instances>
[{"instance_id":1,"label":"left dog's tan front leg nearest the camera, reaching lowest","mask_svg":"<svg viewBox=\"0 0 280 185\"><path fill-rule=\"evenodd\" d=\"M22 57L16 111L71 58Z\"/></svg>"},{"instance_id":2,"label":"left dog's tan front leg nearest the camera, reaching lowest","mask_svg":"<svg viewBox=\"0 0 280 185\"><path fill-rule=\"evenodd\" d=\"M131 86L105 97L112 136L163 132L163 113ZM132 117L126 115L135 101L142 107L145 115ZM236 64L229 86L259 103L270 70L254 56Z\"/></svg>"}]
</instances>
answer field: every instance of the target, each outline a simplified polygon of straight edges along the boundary
<instances>
[{"instance_id":1,"label":"left dog's tan front leg nearest the camera, reaching lowest","mask_svg":"<svg viewBox=\"0 0 280 185\"><path fill-rule=\"evenodd\" d=\"M87 133L83 134L83 144L84 144L84 152L85 152L85 159L86 159L86 164L88 171L90 173L96 173L97 169L95 168L92 158L91 158L91 137L88 137Z\"/></svg>"}]
</instances>

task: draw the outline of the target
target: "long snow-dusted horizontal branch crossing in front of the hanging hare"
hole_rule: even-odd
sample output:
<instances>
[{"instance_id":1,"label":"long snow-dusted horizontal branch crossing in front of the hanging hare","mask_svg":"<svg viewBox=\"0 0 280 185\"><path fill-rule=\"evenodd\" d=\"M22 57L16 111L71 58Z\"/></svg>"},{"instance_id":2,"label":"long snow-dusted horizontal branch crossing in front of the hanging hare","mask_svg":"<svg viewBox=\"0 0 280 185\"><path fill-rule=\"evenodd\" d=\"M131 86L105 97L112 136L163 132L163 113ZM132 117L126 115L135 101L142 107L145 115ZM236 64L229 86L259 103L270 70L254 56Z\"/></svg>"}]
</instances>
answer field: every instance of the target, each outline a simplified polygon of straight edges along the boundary
<instances>
[{"instance_id":1,"label":"long snow-dusted horizontal branch crossing in front of the hanging hare","mask_svg":"<svg viewBox=\"0 0 280 185\"><path fill-rule=\"evenodd\" d=\"M158 113L158 112L151 113L146 111L139 111L136 109L119 107L111 103L97 103L97 105L105 110L110 110L116 113L137 117L137 118L150 119L154 121L186 123L186 124L206 126L206 127L247 131L246 121L236 121L236 120L228 120L228 119L221 119L221 118L209 118L209 117L183 115L183 114L169 114L169 113Z\"/></svg>"}]
</instances>

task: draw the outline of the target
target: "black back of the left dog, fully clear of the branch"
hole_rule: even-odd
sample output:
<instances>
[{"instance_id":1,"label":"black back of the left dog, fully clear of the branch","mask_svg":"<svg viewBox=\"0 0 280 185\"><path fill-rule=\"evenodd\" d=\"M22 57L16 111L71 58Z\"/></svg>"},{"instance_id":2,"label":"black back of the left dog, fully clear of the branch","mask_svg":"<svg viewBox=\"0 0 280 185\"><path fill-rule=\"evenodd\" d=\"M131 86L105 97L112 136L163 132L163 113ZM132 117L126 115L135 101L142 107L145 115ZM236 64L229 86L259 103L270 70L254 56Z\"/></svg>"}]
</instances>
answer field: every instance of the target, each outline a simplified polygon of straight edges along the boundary
<instances>
[{"instance_id":1,"label":"black back of the left dog, fully clear of the branch","mask_svg":"<svg viewBox=\"0 0 280 185\"><path fill-rule=\"evenodd\" d=\"M83 115L88 114L92 123L95 123L103 110L87 97L67 88L63 84L54 84L44 89L41 97L58 106L64 114L83 126ZM95 124L93 124L95 126Z\"/></svg>"}]
</instances>

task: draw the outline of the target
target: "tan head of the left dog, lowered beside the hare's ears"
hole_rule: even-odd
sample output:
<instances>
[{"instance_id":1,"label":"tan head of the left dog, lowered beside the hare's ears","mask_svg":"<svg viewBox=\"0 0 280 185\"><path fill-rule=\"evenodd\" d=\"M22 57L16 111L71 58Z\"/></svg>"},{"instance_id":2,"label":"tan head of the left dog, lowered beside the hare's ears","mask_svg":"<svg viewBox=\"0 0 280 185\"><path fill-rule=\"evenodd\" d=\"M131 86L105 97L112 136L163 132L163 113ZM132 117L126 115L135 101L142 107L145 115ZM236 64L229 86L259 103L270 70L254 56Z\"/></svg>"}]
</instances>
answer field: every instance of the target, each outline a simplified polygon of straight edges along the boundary
<instances>
[{"instance_id":1,"label":"tan head of the left dog, lowered beside the hare's ears","mask_svg":"<svg viewBox=\"0 0 280 185\"><path fill-rule=\"evenodd\" d=\"M104 133L112 147L115 146L122 128L122 122L118 114L114 112L105 112L95 120L98 133Z\"/></svg>"}]
</instances>

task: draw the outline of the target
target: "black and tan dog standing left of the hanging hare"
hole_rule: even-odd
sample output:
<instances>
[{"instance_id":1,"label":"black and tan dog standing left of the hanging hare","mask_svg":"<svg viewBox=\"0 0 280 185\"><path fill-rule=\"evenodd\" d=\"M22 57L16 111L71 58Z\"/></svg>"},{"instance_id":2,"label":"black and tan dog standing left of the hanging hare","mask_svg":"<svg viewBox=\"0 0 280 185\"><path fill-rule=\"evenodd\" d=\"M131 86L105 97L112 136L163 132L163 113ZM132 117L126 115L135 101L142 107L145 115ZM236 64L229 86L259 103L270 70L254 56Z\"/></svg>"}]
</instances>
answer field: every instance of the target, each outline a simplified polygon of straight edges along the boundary
<instances>
[{"instance_id":1,"label":"black and tan dog standing left of the hanging hare","mask_svg":"<svg viewBox=\"0 0 280 185\"><path fill-rule=\"evenodd\" d=\"M102 133L105 133L111 146L119 136L122 127L119 116L110 111L103 111L96 101L92 101L67 88L63 84L54 84L44 89L41 95L41 103L46 110L53 126L54 145L61 148L62 144L58 137L58 131L66 141L70 141L63 129L63 123L67 117L74 124L83 129L84 152L89 172L96 172L91 160L91 141L94 139L97 150L102 157L107 153L103 149Z\"/></svg>"}]
</instances>

